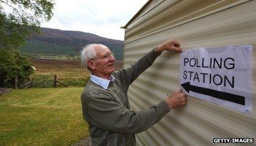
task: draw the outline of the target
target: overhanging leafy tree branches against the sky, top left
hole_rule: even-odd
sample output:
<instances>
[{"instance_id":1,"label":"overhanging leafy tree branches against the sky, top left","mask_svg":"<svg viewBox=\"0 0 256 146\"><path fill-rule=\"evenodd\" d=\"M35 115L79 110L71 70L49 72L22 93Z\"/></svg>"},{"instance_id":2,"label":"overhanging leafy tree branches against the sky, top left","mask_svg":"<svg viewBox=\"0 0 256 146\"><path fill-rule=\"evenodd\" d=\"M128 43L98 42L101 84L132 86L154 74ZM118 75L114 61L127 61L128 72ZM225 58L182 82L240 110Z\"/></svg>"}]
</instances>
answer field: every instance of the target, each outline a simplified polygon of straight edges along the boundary
<instances>
[{"instance_id":1,"label":"overhanging leafy tree branches against the sky, top left","mask_svg":"<svg viewBox=\"0 0 256 146\"><path fill-rule=\"evenodd\" d=\"M53 0L0 0L0 48L16 49L53 16Z\"/></svg>"}]
</instances>

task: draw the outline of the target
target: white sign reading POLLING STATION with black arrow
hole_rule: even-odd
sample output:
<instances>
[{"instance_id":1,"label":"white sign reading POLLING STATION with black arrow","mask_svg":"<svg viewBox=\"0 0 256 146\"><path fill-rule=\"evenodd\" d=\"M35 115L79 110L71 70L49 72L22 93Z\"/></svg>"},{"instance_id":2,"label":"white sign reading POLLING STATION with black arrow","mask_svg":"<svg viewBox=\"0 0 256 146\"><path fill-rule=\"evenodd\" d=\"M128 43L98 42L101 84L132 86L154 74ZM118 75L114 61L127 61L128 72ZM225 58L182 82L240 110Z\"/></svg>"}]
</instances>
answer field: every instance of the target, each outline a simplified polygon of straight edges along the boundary
<instances>
[{"instance_id":1,"label":"white sign reading POLLING STATION with black arrow","mask_svg":"<svg viewBox=\"0 0 256 146\"><path fill-rule=\"evenodd\" d=\"M252 108L252 46L199 48L181 54L185 94L249 113Z\"/></svg>"}]
</instances>

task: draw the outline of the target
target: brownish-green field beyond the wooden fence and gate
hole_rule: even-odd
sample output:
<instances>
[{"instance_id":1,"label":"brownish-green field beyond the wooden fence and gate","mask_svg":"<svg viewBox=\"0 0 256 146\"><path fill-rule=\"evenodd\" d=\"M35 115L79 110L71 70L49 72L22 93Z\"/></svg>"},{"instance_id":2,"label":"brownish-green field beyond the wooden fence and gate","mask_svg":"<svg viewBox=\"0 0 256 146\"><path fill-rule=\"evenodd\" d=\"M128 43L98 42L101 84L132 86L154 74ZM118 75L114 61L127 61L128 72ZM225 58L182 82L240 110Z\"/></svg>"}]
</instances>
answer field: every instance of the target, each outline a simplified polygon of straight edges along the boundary
<instances>
[{"instance_id":1,"label":"brownish-green field beyond the wooden fence and gate","mask_svg":"<svg viewBox=\"0 0 256 146\"><path fill-rule=\"evenodd\" d=\"M31 59L36 71L31 78L43 80L44 78L53 83L53 75L57 75L57 80L68 86L84 87L89 77L86 68L81 69L78 60L38 60Z\"/></svg>"}]
</instances>

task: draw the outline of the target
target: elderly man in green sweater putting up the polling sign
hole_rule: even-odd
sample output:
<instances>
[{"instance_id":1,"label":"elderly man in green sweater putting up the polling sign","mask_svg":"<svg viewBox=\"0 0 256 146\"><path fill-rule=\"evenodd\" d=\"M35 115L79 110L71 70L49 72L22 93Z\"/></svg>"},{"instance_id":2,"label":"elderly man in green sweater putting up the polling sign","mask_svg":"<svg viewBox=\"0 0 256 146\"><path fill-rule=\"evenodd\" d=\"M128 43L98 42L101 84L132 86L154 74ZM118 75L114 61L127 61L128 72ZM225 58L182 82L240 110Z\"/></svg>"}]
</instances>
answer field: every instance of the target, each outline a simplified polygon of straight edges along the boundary
<instances>
[{"instance_id":1,"label":"elderly man in green sweater putting up the polling sign","mask_svg":"<svg viewBox=\"0 0 256 146\"><path fill-rule=\"evenodd\" d=\"M91 78L81 100L92 145L136 145L135 133L149 129L170 109L185 105L186 95L177 90L165 101L147 110L130 110L127 98L129 85L164 50L182 51L180 44L170 39L145 54L134 65L115 71L115 57L107 46L91 44L83 49L81 59L91 71Z\"/></svg>"}]
</instances>

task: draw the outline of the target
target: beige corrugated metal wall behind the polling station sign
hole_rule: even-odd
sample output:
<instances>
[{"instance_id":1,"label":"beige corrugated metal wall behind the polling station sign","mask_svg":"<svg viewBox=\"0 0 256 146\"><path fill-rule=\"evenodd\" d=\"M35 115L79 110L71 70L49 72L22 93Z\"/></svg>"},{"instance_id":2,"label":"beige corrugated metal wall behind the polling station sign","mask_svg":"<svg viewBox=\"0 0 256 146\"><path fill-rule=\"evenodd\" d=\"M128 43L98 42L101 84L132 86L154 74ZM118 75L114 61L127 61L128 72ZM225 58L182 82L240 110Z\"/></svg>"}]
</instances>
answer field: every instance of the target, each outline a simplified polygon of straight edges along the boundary
<instances>
[{"instance_id":1,"label":"beige corrugated metal wall behind the polling station sign","mask_svg":"<svg viewBox=\"0 0 256 146\"><path fill-rule=\"evenodd\" d=\"M252 44L255 76L256 1L159 0L148 5L125 26L124 67L174 38L181 41L184 50ZM162 53L132 83L128 95L133 110L147 109L179 89L179 59L179 54ZM256 141L256 81L252 78L249 115L188 97L187 106L171 110L149 130L139 133L138 145L214 145L213 138Z\"/></svg>"}]
</instances>

